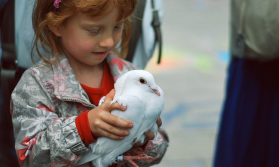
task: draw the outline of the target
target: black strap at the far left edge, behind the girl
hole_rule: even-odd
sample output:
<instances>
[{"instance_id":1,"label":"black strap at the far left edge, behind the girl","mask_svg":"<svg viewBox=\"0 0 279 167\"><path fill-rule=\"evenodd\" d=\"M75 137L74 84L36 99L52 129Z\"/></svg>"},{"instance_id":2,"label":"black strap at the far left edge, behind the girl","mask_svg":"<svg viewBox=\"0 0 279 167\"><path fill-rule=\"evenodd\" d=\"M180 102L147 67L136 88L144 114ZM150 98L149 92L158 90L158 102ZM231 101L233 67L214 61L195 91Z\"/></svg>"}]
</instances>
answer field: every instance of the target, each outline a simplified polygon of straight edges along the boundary
<instances>
[{"instance_id":1,"label":"black strap at the far left edge, behind the girl","mask_svg":"<svg viewBox=\"0 0 279 167\"><path fill-rule=\"evenodd\" d=\"M14 27L14 0L9 0L4 7L1 28L1 88L4 100L4 110L8 113L11 93L16 85L15 74L17 63Z\"/></svg>"}]
</instances>

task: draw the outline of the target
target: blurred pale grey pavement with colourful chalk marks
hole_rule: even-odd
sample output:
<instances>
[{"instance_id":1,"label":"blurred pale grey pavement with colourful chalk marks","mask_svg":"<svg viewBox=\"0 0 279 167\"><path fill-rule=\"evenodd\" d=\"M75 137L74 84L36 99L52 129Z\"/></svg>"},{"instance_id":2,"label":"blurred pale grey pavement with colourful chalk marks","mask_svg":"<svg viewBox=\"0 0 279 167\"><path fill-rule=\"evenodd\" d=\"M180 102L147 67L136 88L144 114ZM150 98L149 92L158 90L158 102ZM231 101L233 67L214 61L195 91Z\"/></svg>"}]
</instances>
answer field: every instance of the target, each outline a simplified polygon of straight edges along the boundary
<instances>
[{"instance_id":1,"label":"blurred pale grey pavement with colourful chalk marks","mask_svg":"<svg viewBox=\"0 0 279 167\"><path fill-rule=\"evenodd\" d=\"M170 139L156 166L210 167L229 62L228 0L163 0L163 56L146 70L165 92L161 115Z\"/></svg>"}]
</instances>

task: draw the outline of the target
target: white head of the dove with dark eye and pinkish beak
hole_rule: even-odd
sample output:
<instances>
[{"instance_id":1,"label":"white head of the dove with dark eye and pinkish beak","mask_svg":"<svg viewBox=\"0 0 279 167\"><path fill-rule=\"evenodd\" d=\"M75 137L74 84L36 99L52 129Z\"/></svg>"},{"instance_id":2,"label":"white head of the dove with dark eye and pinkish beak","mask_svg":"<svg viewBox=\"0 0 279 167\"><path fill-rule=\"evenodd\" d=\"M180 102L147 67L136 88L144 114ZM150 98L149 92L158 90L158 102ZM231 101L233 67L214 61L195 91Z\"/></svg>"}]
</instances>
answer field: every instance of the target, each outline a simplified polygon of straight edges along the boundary
<instances>
[{"instance_id":1,"label":"white head of the dove with dark eye and pinkish beak","mask_svg":"<svg viewBox=\"0 0 279 167\"><path fill-rule=\"evenodd\" d=\"M154 77L151 73L145 70L133 70L127 77L129 85L136 86L138 91L147 91L155 93L158 96L163 94L162 89L156 85Z\"/></svg>"}]
</instances>

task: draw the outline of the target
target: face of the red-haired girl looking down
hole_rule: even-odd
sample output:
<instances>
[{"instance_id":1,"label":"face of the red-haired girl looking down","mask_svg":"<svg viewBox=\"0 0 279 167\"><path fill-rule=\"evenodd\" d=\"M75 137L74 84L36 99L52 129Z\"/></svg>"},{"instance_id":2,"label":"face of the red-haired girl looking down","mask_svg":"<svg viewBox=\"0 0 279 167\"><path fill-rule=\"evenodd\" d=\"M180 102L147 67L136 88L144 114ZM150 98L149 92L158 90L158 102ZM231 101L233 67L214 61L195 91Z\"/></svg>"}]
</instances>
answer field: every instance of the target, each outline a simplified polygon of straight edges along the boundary
<instances>
[{"instance_id":1,"label":"face of the red-haired girl looking down","mask_svg":"<svg viewBox=\"0 0 279 167\"><path fill-rule=\"evenodd\" d=\"M117 8L98 19L79 12L53 30L71 65L95 66L106 58L122 36L124 20L117 17Z\"/></svg>"}]
</instances>

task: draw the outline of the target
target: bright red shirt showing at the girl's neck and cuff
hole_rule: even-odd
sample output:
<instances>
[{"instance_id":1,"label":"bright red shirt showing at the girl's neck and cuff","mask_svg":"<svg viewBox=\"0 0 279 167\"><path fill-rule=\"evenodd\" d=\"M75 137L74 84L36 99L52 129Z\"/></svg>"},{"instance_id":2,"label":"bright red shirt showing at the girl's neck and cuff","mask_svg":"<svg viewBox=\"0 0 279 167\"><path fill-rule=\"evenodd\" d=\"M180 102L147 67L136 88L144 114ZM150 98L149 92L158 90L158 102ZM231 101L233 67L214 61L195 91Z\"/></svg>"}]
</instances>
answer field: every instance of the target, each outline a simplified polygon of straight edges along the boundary
<instances>
[{"instance_id":1,"label":"bright red shirt showing at the girl's neck and cuff","mask_svg":"<svg viewBox=\"0 0 279 167\"><path fill-rule=\"evenodd\" d=\"M82 88L85 90L87 93L89 100L92 104L98 106L99 100L103 97L106 96L110 90L114 88L114 80L112 77L112 74L110 73L110 69L108 67L108 64L106 61L104 61L104 74L102 78L102 86L101 88L91 88L89 86L81 84ZM84 113L81 113L79 116L76 118L76 126L77 130L79 132L79 135L81 136L81 140L83 143L87 146L90 143L93 143L97 140L97 138L93 137L89 122L88 122L88 111L85 111Z\"/></svg>"}]
</instances>

